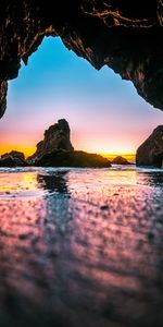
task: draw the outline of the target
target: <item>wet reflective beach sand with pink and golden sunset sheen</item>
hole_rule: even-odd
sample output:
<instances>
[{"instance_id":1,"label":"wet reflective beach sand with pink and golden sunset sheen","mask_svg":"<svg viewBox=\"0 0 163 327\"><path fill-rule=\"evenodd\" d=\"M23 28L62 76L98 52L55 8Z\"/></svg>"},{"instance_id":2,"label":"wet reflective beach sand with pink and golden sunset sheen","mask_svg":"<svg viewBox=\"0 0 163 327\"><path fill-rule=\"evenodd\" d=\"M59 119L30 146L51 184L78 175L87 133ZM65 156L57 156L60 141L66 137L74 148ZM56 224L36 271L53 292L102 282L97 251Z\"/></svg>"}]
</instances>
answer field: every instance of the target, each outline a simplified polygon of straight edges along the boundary
<instances>
[{"instance_id":1,"label":"wet reflective beach sand with pink and golden sunset sheen","mask_svg":"<svg viewBox=\"0 0 163 327\"><path fill-rule=\"evenodd\" d=\"M163 170L0 169L0 327L162 327Z\"/></svg>"}]
</instances>

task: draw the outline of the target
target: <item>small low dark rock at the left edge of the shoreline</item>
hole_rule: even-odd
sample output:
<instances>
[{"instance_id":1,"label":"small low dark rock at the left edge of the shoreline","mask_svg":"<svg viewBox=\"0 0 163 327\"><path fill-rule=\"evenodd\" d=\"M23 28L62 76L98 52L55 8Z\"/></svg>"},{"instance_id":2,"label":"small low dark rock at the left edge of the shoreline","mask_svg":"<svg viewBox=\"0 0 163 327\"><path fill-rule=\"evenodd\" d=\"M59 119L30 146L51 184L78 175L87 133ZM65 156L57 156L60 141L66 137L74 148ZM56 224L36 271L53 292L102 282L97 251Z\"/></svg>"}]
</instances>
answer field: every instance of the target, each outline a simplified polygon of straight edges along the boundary
<instances>
[{"instance_id":1,"label":"small low dark rock at the left edge of the shoreline","mask_svg":"<svg viewBox=\"0 0 163 327\"><path fill-rule=\"evenodd\" d=\"M12 150L9 154L2 155L0 158L0 167L22 167L22 166L27 166L23 153Z\"/></svg>"}]
</instances>

